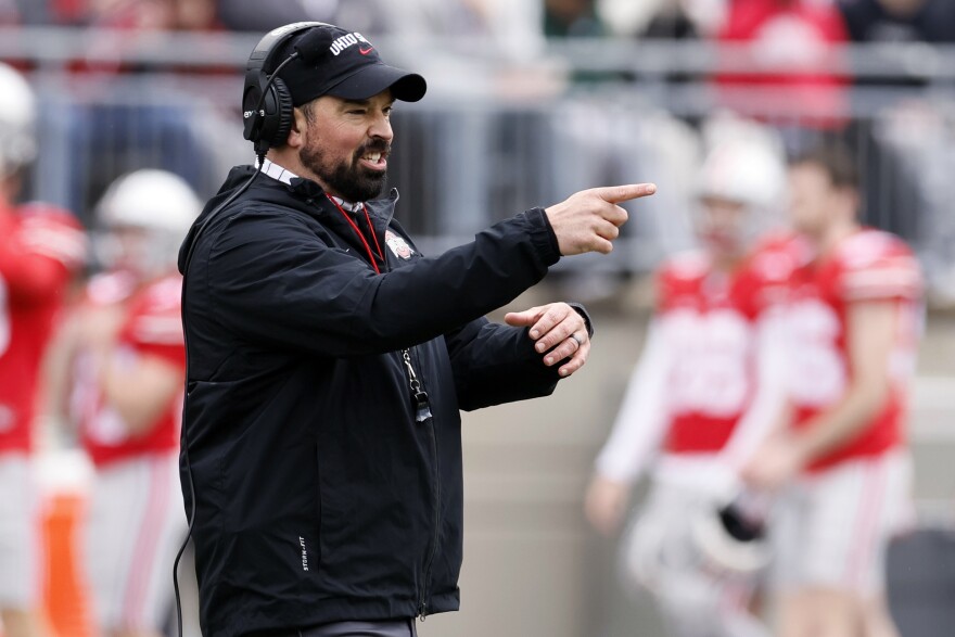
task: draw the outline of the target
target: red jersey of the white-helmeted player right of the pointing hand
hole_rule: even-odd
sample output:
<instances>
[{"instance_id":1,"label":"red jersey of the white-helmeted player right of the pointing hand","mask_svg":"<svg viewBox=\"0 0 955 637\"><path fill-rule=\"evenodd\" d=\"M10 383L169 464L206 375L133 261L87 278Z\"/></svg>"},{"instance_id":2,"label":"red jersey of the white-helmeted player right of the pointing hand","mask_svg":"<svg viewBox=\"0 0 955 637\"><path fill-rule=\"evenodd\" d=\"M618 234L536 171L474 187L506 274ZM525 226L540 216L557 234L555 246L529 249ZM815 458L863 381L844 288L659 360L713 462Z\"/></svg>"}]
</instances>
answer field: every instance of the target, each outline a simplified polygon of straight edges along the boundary
<instances>
[{"instance_id":1,"label":"red jersey of the white-helmeted player right of the pointing hand","mask_svg":"<svg viewBox=\"0 0 955 637\"><path fill-rule=\"evenodd\" d=\"M731 275L702 255L659 271L659 323L671 352L666 451L716 453L726 445L755 396L757 322L785 301L794 263L780 239Z\"/></svg>"}]
</instances>

